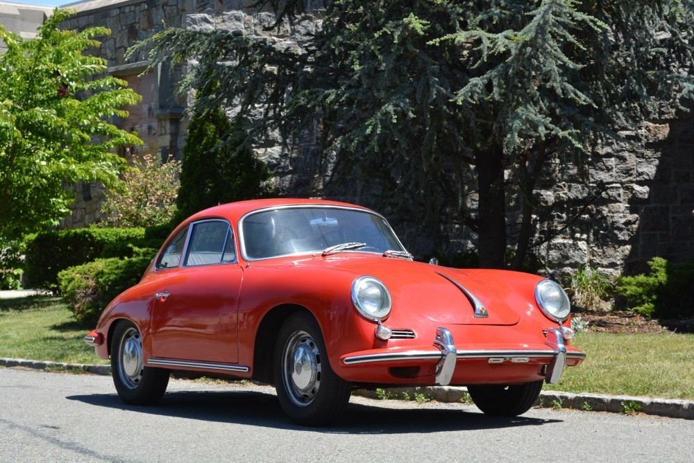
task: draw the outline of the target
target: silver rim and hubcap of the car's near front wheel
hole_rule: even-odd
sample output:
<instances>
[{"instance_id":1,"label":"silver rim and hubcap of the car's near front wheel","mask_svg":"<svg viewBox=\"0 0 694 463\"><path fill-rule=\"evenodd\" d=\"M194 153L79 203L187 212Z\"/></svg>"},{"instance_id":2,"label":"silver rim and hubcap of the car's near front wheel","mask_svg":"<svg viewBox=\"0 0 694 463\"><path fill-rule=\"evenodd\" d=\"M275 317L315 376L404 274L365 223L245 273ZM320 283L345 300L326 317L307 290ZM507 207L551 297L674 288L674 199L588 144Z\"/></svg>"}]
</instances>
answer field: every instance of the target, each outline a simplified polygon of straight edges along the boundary
<instances>
[{"instance_id":1,"label":"silver rim and hubcap of the car's near front wheel","mask_svg":"<svg viewBox=\"0 0 694 463\"><path fill-rule=\"evenodd\" d=\"M289 399L300 407L309 405L321 387L321 353L305 331L297 331L285 344L282 380Z\"/></svg>"}]
</instances>

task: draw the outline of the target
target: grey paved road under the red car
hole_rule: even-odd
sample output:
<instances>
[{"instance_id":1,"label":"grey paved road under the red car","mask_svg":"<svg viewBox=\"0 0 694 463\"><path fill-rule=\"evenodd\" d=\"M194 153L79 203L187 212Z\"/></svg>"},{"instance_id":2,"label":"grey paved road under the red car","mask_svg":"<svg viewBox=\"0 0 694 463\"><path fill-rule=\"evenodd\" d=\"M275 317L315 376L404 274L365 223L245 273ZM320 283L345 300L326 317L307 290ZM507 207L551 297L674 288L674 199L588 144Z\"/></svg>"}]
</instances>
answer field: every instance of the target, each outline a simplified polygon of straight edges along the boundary
<instances>
[{"instance_id":1,"label":"grey paved road under the red car","mask_svg":"<svg viewBox=\"0 0 694 463\"><path fill-rule=\"evenodd\" d=\"M299 428L270 387L172 381L152 408L108 376L0 368L0 462L692 462L694 421L353 397L332 428Z\"/></svg>"}]
</instances>

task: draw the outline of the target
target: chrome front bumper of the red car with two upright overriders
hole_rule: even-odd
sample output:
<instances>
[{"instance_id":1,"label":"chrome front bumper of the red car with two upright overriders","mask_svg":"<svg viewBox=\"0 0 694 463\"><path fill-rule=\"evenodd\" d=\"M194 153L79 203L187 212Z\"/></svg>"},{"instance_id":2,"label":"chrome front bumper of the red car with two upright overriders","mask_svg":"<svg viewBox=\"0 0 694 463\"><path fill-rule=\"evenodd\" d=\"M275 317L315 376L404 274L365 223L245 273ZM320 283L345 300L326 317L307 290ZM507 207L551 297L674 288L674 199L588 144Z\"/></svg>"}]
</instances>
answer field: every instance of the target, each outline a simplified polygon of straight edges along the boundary
<instances>
[{"instance_id":1,"label":"chrome front bumper of the red car with two upright overriders","mask_svg":"<svg viewBox=\"0 0 694 463\"><path fill-rule=\"evenodd\" d=\"M564 372L567 358L583 360L586 354L583 352L567 351L564 344L564 335L556 328L547 330L545 345L550 349L498 349L498 350L458 350L453 342L453 335L445 328L437 328L433 349L417 349L412 351L398 351L392 353L367 353L345 357L342 361L345 365L359 365L375 362L398 362L412 360L438 360L434 369L436 384L445 386L452 379L457 360L486 358L489 363L527 363L531 358L545 358L547 372L545 382L554 384L559 381Z\"/></svg>"}]
</instances>

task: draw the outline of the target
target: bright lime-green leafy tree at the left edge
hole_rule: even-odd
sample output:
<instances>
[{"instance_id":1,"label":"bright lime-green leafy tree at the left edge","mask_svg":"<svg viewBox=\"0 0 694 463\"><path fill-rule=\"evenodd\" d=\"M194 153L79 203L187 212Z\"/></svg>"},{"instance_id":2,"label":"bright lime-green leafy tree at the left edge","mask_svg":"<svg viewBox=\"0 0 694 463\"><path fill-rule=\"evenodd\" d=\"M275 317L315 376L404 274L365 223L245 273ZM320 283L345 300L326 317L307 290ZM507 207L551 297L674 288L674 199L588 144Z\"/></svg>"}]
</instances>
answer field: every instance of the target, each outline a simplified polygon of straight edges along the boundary
<instances>
[{"instance_id":1,"label":"bright lime-green leafy tree at the left edge","mask_svg":"<svg viewBox=\"0 0 694 463\"><path fill-rule=\"evenodd\" d=\"M126 165L112 151L142 143L108 122L140 97L103 76L105 60L83 54L108 29L59 30L69 15L56 9L32 40L0 26L0 249L69 215L66 184L115 186Z\"/></svg>"}]
</instances>

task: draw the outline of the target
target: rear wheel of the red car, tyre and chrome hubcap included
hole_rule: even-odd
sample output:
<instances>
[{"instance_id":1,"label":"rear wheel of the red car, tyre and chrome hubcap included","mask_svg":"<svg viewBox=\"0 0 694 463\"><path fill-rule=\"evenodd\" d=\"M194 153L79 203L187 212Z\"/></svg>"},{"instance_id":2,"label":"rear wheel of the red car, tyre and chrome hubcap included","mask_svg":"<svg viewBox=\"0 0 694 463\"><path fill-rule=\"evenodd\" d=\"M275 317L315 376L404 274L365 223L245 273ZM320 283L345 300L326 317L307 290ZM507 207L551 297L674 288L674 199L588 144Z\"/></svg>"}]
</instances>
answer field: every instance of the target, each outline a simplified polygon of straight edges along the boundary
<instances>
[{"instance_id":1,"label":"rear wheel of the red car, tyre and chrome hubcap included","mask_svg":"<svg viewBox=\"0 0 694 463\"><path fill-rule=\"evenodd\" d=\"M121 400L130 405L157 403L169 385L169 370L144 366L142 335L131 322L120 322L113 332L111 374Z\"/></svg>"}]
</instances>

